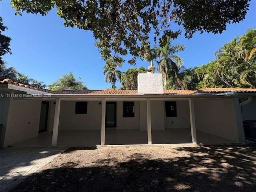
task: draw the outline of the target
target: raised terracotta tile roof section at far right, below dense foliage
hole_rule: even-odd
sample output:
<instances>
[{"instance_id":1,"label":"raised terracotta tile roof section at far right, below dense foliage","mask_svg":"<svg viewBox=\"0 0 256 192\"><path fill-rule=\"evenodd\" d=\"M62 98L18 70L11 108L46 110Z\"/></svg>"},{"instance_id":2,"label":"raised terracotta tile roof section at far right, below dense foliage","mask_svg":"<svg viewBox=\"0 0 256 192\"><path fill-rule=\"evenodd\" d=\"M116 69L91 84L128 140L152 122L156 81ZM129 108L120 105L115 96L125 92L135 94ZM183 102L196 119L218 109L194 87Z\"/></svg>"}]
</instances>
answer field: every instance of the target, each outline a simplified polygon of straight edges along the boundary
<instances>
[{"instance_id":1,"label":"raised terracotta tile roof section at far right, below dense foliage","mask_svg":"<svg viewBox=\"0 0 256 192\"><path fill-rule=\"evenodd\" d=\"M199 90L200 93L224 93L224 92L238 92L238 93L256 93L256 89L245 88L204 88Z\"/></svg>"}]
</instances>

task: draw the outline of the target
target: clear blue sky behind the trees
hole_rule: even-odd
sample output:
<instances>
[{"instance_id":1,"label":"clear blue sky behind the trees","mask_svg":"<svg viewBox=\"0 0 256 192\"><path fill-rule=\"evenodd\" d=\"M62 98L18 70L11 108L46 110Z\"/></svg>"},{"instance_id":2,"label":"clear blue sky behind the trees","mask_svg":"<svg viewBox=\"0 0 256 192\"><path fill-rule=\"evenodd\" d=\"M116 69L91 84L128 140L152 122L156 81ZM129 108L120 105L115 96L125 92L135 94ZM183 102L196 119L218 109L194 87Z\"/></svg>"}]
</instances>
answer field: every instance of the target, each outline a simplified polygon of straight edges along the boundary
<instances>
[{"instance_id":1,"label":"clear blue sky behind the trees","mask_svg":"<svg viewBox=\"0 0 256 192\"><path fill-rule=\"evenodd\" d=\"M249 28L256 26L256 0L252 0L245 20L239 24L228 24L222 34L200 34L196 32L191 39L184 37L184 32L172 44L184 44L186 50L178 53L184 60L186 68L208 64L214 60L214 53L234 37L242 35ZM12 38L12 55L6 54L3 59L8 66L28 75L46 85L52 84L63 74L72 72L76 78L82 77L84 84L92 90L110 88L103 75L104 60L99 49L94 47L96 40L92 32L74 28L65 28L64 20L50 11L47 16L27 14L15 16L10 1L0 2L0 16L8 30L3 34ZM153 37L152 37L153 39ZM154 45L152 40L151 45ZM126 63L119 68L145 67L149 63L137 59L136 66L128 64L129 56L124 57ZM120 83L117 84L120 88Z\"/></svg>"}]
</instances>

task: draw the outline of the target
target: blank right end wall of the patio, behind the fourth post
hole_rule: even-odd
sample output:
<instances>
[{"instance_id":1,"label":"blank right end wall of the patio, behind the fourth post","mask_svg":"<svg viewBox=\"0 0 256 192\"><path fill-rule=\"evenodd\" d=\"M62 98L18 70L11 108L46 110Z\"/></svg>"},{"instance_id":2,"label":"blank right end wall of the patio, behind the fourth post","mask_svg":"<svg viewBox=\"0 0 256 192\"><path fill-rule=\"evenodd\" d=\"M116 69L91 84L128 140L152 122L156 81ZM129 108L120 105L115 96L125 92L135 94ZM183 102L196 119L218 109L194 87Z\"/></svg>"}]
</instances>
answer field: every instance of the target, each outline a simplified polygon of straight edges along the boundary
<instances>
[{"instance_id":1,"label":"blank right end wall of the patio, behind the fourth post","mask_svg":"<svg viewBox=\"0 0 256 192\"><path fill-rule=\"evenodd\" d=\"M238 142L232 99L194 101L196 130Z\"/></svg>"}]
</instances>

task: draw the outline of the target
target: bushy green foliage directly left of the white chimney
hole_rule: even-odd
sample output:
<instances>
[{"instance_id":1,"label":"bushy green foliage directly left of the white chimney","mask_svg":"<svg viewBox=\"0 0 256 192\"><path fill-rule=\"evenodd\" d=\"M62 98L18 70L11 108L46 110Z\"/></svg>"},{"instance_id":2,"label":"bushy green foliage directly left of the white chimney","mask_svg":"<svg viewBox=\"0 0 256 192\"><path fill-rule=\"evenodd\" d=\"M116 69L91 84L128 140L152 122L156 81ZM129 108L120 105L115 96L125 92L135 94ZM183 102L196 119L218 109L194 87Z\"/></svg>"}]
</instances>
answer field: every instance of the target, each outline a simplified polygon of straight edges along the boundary
<instances>
[{"instance_id":1,"label":"bushy green foliage directly left of the white chimney","mask_svg":"<svg viewBox=\"0 0 256 192\"><path fill-rule=\"evenodd\" d=\"M138 88L138 74L146 73L147 70L144 67L140 68L130 68L126 72L122 72L121 75L121 85L120 89L137 89Z\"/></svg>"}]
</instances>

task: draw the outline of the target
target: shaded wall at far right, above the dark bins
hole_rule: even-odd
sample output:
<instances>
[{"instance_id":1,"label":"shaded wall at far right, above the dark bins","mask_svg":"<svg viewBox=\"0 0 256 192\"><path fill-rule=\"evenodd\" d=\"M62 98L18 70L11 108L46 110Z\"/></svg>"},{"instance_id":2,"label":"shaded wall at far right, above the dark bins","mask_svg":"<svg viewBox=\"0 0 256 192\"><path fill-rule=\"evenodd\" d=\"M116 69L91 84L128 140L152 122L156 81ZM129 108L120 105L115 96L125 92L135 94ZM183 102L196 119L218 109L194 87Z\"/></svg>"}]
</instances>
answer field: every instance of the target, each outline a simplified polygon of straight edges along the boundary
<instances>
[{"instance_id":1,"label":"shaded wall at far right, above the dark bins","mask_svg":"<svg viewBox=\"0 0 256 192\"><path fill-rule=\"evenodd\" d=\"M245 100L247 98L241 99L241 102ZM250 103L242 105L241 108L243 120L256 120L256 97L253 97Z\"/></svg>"}]
</instances>

